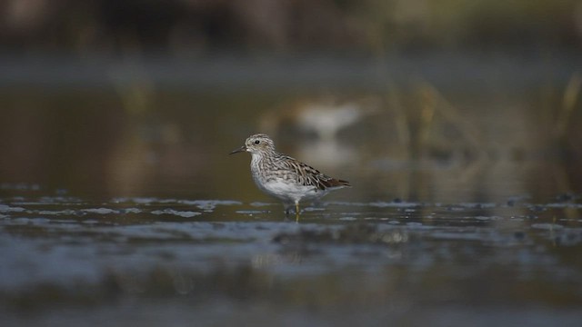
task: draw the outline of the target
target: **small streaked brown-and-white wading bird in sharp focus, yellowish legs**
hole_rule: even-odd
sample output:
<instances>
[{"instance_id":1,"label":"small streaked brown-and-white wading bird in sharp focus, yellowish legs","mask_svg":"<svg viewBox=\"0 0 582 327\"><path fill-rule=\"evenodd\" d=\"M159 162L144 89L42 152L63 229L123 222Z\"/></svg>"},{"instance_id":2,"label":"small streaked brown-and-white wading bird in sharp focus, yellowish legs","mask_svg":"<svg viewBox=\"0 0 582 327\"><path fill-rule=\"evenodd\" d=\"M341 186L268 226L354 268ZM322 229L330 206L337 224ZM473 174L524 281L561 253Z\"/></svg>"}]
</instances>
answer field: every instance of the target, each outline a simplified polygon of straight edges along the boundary
<instances>
[{"instance_id":1,"label":"small streaked brown-and-white wading bird in sharp focus, yellowish legs","mask_svg":"<svg viewBox=\"0 0 582 327\"><path fill-rule=\"evenodd\" d=\"M330 191L351 186L347 181L329 177L306 163L279 154L266 134L249 136L245 145L230 154L240 152L252 154L251 173L256 186L281 200L287 216L295 204L296 220L299 219L299 202L315 200Z\"/></svg>"}]
</instances>

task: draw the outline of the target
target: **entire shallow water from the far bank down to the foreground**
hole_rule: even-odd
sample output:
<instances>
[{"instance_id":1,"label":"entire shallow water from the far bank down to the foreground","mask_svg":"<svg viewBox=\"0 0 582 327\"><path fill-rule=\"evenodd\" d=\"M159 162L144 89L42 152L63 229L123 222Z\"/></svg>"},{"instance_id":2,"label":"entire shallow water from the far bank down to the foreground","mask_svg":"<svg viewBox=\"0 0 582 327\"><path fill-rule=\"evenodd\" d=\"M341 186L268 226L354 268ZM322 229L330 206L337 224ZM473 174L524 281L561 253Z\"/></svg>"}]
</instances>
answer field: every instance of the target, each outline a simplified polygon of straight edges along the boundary
<instances>
[{"instance_id":1,"label":"entire shallow water from the far bank down to the foreground","mask_svg":"<svg viewBox=\"0 0 582 327\"><path fill-rule=\"evenodd\" d=\"M450 60L0 76L2 325L579 325L576 63ZM227 155L259 131L354 186L287 219Z\"/></svg>"}]
</instances>

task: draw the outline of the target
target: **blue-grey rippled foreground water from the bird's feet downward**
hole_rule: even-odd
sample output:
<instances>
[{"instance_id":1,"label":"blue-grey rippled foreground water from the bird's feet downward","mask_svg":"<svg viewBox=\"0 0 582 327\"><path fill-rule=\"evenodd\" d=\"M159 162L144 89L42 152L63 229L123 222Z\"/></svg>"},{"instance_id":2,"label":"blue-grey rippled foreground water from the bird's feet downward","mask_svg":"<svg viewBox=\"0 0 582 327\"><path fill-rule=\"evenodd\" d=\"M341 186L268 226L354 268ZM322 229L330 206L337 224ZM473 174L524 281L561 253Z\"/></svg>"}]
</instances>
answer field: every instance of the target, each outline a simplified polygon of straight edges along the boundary
<instances>
[{"instance_id":1,"label":"blue-grey rippled foreground water from the bird's feet downward","mask_svg":"<svg viewBox=\"0 0 582 327\"><path fill-rule=\"evenodd\" d=\"M28 189L0 200L8 325L541 326L581 317L579 194L329 201L296 223L279 203L95 202Z\"/></svg>"}]
</instances>

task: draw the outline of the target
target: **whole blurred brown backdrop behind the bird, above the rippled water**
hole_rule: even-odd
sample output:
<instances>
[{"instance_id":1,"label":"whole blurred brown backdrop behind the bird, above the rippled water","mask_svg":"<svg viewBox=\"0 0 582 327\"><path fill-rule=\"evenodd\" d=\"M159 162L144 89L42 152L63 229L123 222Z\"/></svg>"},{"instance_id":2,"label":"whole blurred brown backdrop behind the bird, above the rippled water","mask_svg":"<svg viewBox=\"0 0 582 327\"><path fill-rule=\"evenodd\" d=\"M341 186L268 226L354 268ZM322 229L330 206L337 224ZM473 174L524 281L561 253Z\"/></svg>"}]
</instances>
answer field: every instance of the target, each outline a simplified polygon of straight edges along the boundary
<instances>
[{"instance_id":1,"label":"whole blurred brown backdrop behind the bird, above the rippled water","mask_svg":"<svg viewBox=\"0 0 582 327\"><path fill-rule=\"evenodd\" d=\"M5 0L0 26L0 181L250 201L224 154L261 131L365 199L582 184L579 0Z\"/></svg>"}]
</instances>

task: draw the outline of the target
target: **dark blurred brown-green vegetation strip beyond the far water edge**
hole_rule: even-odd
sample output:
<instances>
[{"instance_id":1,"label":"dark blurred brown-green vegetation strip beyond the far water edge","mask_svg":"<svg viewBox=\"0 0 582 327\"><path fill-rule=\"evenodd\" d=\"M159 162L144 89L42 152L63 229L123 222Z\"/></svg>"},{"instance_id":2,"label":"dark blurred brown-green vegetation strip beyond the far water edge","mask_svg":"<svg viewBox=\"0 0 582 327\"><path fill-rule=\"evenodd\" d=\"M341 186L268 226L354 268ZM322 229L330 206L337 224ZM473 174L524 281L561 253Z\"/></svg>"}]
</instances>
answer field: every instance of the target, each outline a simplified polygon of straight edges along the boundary
<instances>
[{"instance_id":1,"label":"dark blurred brown-green vegetation strip beyond the far water edge","mask_svg":"<svg viewBox=\"0 0 582 327\"><path fill-rule=\"evenodd\" d=\"M577 0L5 0L12 54L582 49Z\"/></svg>"}]
</instances>

